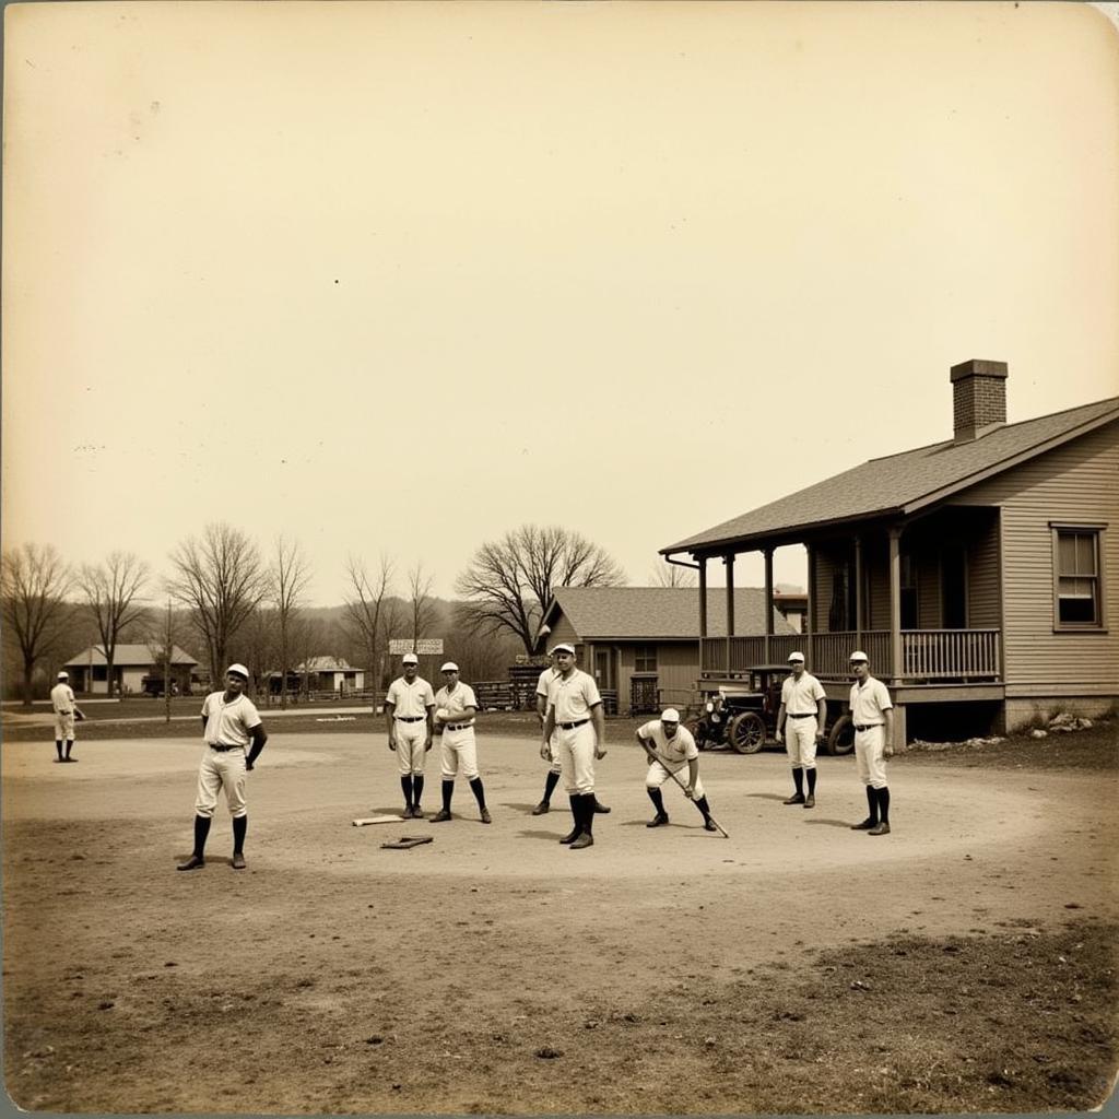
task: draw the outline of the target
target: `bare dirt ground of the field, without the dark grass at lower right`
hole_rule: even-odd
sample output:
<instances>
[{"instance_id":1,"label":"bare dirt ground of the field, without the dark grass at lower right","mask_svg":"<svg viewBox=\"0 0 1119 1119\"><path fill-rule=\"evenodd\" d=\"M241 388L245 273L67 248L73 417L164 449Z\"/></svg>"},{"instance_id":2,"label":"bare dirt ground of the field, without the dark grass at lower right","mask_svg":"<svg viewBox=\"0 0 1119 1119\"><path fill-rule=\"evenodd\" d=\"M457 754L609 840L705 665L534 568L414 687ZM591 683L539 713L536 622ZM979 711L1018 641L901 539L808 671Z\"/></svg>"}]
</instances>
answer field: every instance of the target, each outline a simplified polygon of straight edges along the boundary
<instances>
[{"instance_id":1,"label":"bare dirt ground of the field, without the dark grass at lower right","mask_svg":"<svg viewBox=\"0 0 1119 1119\"><path fill-rule=\"evenodd\" d=\"M482 740L490 827L463 787L451 824L355 828L398 805L384 737L276 733L251 778L248 869L226 864L219 816L184 875L196 739L51 753L3 749L7 1083L25 1108L750 1111L741 1075L688 1089L594 1029L659 1014L658 1036L703 1044L679 1018L689 991L733 999L825 948L1119 916L1111 778L900 760L894 831L872 838L848 828L865 810L850 759L821 759L805 811L780 803L780 755L708 754L727 840L675 789L673 826L649 831L640 752L615 746L613 811L570 852L568 814L529 815L528 740ZM379 847L405 834L434 843Z\"/></svg>"}]
</instances>

